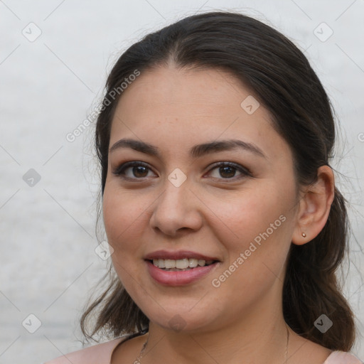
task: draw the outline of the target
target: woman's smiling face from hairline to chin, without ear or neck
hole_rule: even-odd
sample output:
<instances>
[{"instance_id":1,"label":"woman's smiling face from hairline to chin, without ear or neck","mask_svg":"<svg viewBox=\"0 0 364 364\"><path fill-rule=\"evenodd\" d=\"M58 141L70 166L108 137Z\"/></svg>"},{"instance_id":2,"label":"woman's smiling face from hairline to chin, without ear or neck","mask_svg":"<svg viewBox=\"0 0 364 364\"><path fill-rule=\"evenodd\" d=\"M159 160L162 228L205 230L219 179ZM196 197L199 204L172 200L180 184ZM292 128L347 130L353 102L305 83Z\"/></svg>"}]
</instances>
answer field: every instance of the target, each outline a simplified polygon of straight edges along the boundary
<instances>
[{"instance_id":1,"label":"woman's smiling face from hairline to chin, without ear or neck","mask_svg":"<svg viewBox=\"0 0 364 364\"><path fill-rule=\"evenodd\" d=\"M250 90L220 70L141 73L119 100L109 147L112 262L152 322L211 330L279 308L294 164Z\"/></svg>"}]
</instances>

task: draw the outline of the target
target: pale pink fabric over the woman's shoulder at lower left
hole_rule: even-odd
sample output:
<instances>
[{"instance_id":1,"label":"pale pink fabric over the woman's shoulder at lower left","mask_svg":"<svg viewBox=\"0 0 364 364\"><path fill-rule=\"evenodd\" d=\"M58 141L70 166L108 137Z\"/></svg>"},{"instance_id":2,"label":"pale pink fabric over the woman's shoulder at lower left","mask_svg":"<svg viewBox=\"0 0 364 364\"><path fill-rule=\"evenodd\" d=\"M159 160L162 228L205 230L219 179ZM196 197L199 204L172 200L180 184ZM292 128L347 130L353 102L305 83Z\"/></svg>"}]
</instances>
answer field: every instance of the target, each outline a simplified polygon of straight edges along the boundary
<instances>
[{"instance_id":1,"label":"pale pink fabric over the woman's shoulder at lower left","mask_svg":"<svg viewBox=\"0 0 364 364\"><path fill-rule=\"evenodd\" d=\"M77 350L47 361L44 364L109 364L114 348L125 339L125 337L117 338L107 343Z\"/></svg>"}]
</instances>

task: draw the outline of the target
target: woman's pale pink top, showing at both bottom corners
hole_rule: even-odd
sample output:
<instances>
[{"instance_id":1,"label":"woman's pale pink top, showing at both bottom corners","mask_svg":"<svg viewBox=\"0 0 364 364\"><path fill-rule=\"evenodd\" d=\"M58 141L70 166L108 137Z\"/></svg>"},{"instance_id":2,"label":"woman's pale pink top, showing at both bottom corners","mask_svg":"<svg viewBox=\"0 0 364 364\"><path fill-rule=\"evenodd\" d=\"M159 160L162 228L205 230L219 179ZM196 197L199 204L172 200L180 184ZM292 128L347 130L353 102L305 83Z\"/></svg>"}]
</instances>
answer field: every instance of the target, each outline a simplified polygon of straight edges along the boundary
<instances>
[{"instance_id":1,"label":"woman's pale pink top, showing at both bottom corners","mask_svg":"<svg viewBox=\"0 0 364 364\"><path fill-rule=\"evenodd\" d=\"M107 343L97 344L89 348L69 353L43 364L110 364L112 353L119 343L126 338L117 338ZM333 351L323 364L363 364L355 356L343 351Z\"/></svg>"}]
</instances>

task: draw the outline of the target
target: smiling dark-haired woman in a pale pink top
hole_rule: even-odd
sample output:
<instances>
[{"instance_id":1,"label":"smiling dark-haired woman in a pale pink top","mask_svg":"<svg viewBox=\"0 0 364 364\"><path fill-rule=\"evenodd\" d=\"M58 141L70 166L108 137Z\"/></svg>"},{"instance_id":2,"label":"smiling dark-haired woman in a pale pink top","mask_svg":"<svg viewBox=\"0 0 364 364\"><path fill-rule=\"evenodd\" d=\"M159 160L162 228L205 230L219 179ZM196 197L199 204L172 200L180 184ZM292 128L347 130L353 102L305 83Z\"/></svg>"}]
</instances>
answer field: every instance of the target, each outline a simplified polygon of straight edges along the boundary
<instances>
[{"instance_id":1,"label":"smiling dark-haired woman in a pale pink top","mask_svg":"<svg viewBox=\"0 0 364 364\"><path fill-rule=\"evenodd\" d=\"M112 340L48 363L360 363L333 114L295 45L242 14L184 18L119 58L100 111L117 277L81 326Z\"/></svg>"}]
</instances>

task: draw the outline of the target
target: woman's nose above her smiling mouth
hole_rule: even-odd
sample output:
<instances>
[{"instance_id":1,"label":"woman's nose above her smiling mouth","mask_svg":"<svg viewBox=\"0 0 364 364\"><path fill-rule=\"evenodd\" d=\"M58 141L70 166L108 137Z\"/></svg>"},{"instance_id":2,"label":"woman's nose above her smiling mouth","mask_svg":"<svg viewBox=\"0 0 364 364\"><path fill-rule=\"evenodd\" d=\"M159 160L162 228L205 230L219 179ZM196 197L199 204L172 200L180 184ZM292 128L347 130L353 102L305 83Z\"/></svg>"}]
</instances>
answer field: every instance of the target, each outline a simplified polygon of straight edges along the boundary
<instances>
[{"instance_id":1,"label":"woman's nose above her smiling mouth","mask_svg":"<svg viewBox=\"0 0 364 364\"><path fill-rule=\"evenodd\" d=\"M197 231L203 225L201 205L203 203L191 191L187 181L176 187L167 180L164 192L155 202L150 226L169 236L182 231Z\"/></svg>"}]
</instances>

